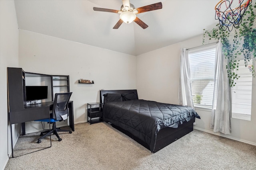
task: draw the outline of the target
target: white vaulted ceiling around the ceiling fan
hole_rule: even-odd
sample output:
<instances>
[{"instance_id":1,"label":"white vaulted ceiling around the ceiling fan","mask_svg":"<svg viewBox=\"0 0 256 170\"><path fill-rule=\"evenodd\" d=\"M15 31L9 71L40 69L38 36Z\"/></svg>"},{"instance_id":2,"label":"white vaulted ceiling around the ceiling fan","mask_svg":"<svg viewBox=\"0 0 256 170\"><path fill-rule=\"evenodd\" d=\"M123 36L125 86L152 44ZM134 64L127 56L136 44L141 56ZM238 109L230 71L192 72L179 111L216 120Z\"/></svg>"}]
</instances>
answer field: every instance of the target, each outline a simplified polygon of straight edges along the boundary
<instances>
[{"instance_id":1,"label":"white vaulted ceiling around the ceiling fan","mask_svg":"<svg viewBox=\"0 0 256 170\"><path fill-rule=\"evenodd\" d=\"M120 10L122 0L15 0L15 7L19 29L135 56L202 35L218 23L219 0L130 0L135 8L157 2L162 9L137 14L146 29L134 22L113 29L119 14L93 10Z\"/></svg>"}]
</instances>

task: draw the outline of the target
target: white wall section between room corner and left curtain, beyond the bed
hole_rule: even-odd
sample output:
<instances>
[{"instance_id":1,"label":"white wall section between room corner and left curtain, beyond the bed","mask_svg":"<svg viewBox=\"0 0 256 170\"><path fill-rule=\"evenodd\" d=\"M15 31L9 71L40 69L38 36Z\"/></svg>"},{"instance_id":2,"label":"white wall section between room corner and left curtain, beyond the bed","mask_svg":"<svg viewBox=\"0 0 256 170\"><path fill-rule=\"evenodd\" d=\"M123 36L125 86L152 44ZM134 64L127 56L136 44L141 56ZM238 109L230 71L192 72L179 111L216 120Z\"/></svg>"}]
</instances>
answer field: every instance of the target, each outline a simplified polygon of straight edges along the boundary
<instances>
[{"instance_id":1,"label":"white wall section between room corner and left curtain, beyond the bed","mask_svg":"<svg viewBox=\"0 0 256 170\"><path fill-rule=\"evenodd\" d=\"M178 44L137 57L137 90L140 99L178 104L180 51ZM178 73L178 74L177 74Z\"/></svg>"}]
</instances>

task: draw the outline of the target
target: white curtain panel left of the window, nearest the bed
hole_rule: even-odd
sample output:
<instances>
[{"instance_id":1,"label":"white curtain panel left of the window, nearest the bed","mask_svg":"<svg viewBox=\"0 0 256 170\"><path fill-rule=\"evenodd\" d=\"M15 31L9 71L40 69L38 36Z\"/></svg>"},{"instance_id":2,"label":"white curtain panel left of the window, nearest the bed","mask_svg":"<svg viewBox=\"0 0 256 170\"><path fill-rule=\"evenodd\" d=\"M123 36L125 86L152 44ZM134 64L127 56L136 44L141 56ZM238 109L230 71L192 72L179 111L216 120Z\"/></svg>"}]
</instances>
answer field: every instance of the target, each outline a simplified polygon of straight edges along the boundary
<instances>
[{"instance_id":1,"label":"white curtain panel left of the window, nearest the bed","mask_svg":"<svg viewBox=\"0 0 256 170\"><path fill-rule=\"evenodd\" d=\"M179 102L182 106L189 106L194 108L190 85L190 66L188 59L188 50L184 48L181 49L180 53Z\"/></svg>"}]
</instances>

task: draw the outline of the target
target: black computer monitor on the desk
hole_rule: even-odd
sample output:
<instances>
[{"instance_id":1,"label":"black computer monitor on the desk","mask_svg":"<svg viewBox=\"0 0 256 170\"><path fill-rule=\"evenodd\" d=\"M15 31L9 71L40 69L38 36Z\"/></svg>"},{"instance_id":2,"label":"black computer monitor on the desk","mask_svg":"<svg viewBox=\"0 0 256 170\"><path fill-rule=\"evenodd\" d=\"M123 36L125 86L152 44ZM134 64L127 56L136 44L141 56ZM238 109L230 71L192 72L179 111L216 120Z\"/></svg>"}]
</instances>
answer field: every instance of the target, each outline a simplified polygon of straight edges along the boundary
<instances>
[{"instance_id":1,"label":"black computer monitor on the desk","mask_svg":"<svg viewBox=\"0 0 256 170\"><path fill-rule=\"evenodd\" d=\"M26 101L30 101L30 104L36 103L37 100L48 98L48 86L26 86ZM31 101L34 101L33 103Z\"/></svg>"}]
</instances>

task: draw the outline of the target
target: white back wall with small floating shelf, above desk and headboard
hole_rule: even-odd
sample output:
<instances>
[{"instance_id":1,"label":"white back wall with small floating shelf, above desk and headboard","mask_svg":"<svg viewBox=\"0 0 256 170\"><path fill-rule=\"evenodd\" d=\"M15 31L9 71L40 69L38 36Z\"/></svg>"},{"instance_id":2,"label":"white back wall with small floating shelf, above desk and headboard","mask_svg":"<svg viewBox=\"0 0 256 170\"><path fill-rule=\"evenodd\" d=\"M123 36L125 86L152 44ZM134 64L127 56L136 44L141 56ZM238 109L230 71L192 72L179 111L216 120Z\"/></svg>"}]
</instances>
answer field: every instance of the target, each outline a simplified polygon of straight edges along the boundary
<instances>
[{"instance_id":1,"label":"white back wall with small floating shelf, above desk and headboard","mask_svg":"<svg viewBox=\"0 0 256 170\"><path fill-rule=\"evenodd\" d=\"M86 104L100 101L99 90L136 88L135 56L25 30L19 44L24 71L70 76L75 123L87 121ZM94 84L78 84L80 78Z\"/></svg>"}]
</instances>

